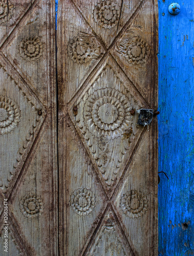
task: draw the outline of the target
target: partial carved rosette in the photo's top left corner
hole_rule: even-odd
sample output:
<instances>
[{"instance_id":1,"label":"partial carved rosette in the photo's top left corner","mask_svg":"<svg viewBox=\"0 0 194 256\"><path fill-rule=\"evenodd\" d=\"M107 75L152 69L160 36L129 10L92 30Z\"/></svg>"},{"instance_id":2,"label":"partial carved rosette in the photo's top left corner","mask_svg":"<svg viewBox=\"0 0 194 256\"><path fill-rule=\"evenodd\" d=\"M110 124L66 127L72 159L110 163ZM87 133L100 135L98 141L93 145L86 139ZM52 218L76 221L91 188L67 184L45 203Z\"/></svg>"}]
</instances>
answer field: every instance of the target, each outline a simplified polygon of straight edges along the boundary
<instances>
[{"instance_id":1,"label":"partial carved rosette in the photo's top left corner","mask_svg":"<svg viewBox=\"0 0 194 256\"><path fill-rule=\"evenodd\" d=\"M0 0L0 25L6 25L13 15L13 5L10 0Z\"/></svg>"}]
</instances>

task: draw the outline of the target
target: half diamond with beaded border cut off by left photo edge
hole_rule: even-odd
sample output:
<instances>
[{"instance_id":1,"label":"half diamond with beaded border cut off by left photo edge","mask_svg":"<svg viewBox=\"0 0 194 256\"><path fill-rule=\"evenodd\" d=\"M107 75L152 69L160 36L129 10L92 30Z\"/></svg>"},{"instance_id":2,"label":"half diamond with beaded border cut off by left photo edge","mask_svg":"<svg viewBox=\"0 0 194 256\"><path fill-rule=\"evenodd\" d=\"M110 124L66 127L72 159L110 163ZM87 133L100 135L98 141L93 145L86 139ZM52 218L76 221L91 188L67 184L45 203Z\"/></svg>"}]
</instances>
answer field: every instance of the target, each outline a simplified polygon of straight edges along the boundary
<instances>
[{"instance_id":1,"label":"half diamond with beaded border cut off by left photo edge","mask_svg":"<svg viewBox=\"0 0 194 256\"><path fill-rule=\"evenodd\" d=\"M45 111L38 99L28 90L23 91L23 82L17 83L3 66L0 75L0 136L2 144L6 145L0 148L0 188L9 194L10 183L13 185L16 181ZM43 113L41 116L37 113L39 109ZM5 148L9 148L9 154L5 154Z\"/></svg>"}]
</instances>

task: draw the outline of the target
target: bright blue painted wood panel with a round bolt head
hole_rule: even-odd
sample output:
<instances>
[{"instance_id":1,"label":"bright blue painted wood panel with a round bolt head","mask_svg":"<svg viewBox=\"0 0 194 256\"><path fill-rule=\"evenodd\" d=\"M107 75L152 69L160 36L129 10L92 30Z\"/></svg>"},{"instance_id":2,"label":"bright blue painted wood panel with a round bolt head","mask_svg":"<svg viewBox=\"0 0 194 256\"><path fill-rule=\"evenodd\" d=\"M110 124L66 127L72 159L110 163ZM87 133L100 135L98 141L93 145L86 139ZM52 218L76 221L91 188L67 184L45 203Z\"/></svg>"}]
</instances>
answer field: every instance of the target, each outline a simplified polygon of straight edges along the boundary
<instances>
[{"instance_id":1,"label":"bright blue painted wood panel with a round bolt head","mask_svg":"<svg viewBox=\"0 0 194 256\"><path fill-rule=\"evenodd\" d=\"M194 1L158 3L159 255L194 255Z\"/></svg>"}]
</instances>

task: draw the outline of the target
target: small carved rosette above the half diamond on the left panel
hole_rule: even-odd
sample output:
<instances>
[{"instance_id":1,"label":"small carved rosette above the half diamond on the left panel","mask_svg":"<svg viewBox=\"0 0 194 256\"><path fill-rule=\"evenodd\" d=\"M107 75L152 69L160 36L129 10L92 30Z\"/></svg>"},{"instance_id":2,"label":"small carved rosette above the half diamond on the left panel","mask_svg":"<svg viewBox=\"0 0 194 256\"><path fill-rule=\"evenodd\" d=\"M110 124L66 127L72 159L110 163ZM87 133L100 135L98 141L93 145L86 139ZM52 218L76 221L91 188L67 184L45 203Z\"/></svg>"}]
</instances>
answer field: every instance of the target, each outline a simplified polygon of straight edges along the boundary
<instances>
[{"instance_id":1,"label":"small carved rosette above the half diamond on the left panel","mask_svg":"<svg viewBox=\"0 0 194 256\"><path fill-rule=\"evenodd\" d=\"M20 56L29 61L39 59L42 51L43 43L38 37L23 39L19 44Z\"/></svg>"}]
</instances>

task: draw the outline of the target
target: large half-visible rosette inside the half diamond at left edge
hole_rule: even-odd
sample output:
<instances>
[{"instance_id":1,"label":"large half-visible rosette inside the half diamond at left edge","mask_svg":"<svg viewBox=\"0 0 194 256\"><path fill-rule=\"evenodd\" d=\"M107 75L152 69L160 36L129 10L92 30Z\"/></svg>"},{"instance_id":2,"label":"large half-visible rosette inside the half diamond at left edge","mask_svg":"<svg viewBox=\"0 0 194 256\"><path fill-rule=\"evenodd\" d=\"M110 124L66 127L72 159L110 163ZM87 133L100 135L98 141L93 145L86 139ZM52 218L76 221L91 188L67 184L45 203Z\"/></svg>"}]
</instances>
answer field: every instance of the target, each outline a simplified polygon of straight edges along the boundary
<instances>
[{"instance_id":1,"label":"large half-visible rosette inside the half diamond at left edge","mask_svg":"<svg viewBox=\"0 0 194 256\"><path fill-rule=\"evenodd\" d=\"M0 96L0 134L8 134L20 121L20 110L16 102L9 97Z\"/></svg>"}]
</instances>

